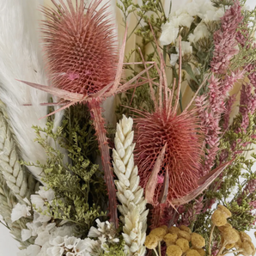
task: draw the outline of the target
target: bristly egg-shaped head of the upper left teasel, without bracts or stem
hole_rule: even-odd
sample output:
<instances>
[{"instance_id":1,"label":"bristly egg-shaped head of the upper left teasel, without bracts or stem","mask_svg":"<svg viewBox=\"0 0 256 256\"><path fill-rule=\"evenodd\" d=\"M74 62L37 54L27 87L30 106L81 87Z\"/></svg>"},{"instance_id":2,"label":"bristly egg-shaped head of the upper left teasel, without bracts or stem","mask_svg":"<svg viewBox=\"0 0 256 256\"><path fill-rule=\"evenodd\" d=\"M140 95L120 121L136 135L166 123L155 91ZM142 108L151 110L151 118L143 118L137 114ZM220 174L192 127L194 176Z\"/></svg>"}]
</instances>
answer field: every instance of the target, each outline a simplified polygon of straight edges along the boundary
<instances>
[{"instance_id":1,"label":"bristly egg-shaped head of the upper left teasel, without bracts or stem","mask_svg":"<svg viewBox=\"0 0 256 256\"><path fill-rule=\"evenodd\" d=\"M113 82L118 63L107 6L97 9L101 0L94 0L85 12L82 0L52 3L58 10L42 9L42 32L53 85L85 95L101 90Z\"/></svg>"}]
</instances>

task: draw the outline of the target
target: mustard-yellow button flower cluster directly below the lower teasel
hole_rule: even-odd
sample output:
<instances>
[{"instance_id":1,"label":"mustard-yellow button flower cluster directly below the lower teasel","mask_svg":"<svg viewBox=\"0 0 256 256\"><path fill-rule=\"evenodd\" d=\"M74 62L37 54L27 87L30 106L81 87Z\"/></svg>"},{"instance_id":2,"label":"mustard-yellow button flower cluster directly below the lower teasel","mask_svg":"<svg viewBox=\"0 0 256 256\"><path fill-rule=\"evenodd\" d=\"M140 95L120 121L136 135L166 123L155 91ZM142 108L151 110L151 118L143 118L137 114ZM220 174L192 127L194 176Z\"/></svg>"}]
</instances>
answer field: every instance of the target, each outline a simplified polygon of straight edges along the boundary
<instances>
[{"instance_id":1,"label":"mustard-yellow button flower cluster directly below the lower teasel","mask_svg":"<svg viewBox=\"0 0 256 256\"><path fill-rule=\"evenodd\" d=\"M181 225L178 227L161 226L151 230L146 237L145 247L154 249L159 242L164 241L167 246L168 256L204 256L204 237L192 233L191 229Z\"/></svg>"}]
</instances>

